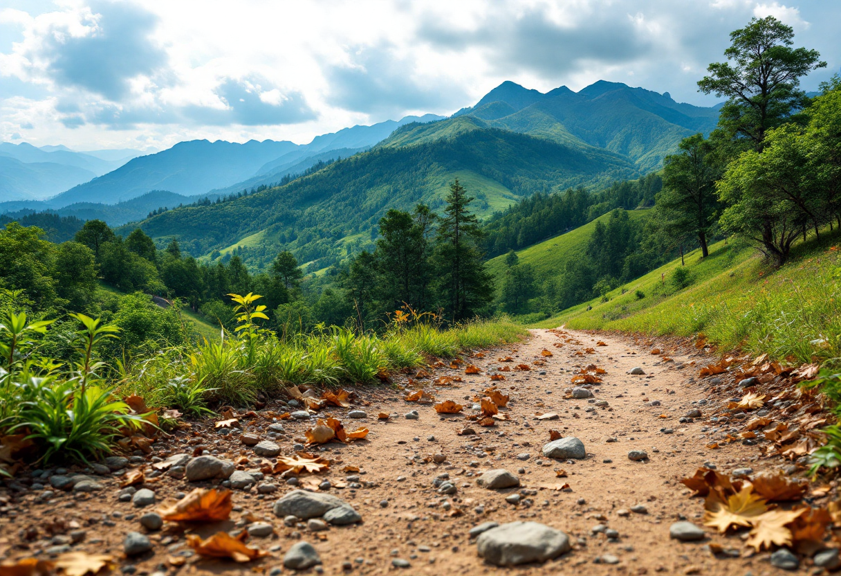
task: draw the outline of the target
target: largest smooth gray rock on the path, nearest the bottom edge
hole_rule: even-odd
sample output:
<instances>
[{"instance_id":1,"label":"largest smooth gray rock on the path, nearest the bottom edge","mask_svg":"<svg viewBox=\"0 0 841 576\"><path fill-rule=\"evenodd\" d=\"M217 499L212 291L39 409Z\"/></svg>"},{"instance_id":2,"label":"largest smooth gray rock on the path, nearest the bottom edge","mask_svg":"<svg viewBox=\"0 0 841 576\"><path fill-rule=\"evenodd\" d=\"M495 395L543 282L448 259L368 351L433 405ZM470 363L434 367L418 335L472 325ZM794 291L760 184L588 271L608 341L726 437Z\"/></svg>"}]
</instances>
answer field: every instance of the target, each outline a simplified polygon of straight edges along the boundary
<instances>
[{"instance_id":1,"label":"largest smooth gray rock on the path, nearest the bottom edge","mask_svg":"<svg viewBox=\"0 0 841 576\"><path fill-rule=\"evenodd\" d=\"M537 522L510 522L482 532L476 541L479 556L496 566L546 562L571 549L562 531Z\"/></svg>"}]
</instances>

